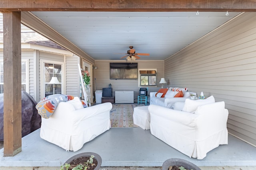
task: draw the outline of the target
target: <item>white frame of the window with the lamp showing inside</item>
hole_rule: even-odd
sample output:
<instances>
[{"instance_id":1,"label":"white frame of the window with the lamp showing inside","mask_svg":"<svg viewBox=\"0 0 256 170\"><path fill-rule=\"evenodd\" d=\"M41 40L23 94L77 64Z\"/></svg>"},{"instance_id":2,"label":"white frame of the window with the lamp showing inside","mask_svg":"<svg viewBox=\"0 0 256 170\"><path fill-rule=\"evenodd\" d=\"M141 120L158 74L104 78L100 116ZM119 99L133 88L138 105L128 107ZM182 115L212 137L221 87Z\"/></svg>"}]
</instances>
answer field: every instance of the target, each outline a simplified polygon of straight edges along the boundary
<instances>
[{"instance_id":1,"label":"white frame of the window with the lamp showing inside","mask_svg":"<svg viewBox=\"0 0 256 170\"><path fill-rule=\"evenodd\" d=\"M45 63L51 63L51 64L60 64L61 65L61 70L62 70L62 74L61 74L61 94L66 94L66 92L64 91L64 86L66 86L65 82L65 67L64 67L64 62L60 62L60 61L51 61L51 60L40 60L40 72L41 72L41 77L40 77L40 97L44 98L45 97L45 84L48 82L44 82L44 64Z\"/></svg>"}]
</instances>

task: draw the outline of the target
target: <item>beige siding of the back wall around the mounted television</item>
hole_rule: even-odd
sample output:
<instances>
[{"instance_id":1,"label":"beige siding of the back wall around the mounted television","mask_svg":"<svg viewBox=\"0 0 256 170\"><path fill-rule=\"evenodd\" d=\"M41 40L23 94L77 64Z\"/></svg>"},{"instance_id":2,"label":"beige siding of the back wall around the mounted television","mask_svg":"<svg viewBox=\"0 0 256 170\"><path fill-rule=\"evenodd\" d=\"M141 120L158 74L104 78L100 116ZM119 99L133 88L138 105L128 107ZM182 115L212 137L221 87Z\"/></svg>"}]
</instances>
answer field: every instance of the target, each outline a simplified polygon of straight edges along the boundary
<instances>
[{"instance_id":1,"label":"beige siding of the back wall around the mounted television","mask_svg":"<svg viewBox=\"0 0 256 170\"><path fill-rule=\"evenodd\" d=\"M115 91L134 91L134 99L138 98L140 87L138 87L138 80L110 80L110 66L109 63L125 63L126 61L101 61L96 60L95 64L98 69L95 70L97 90L108 87L111 83L113 96ZM142 68L156 68L157 69L157 82L164 77L164 61L136 61L138 69ZM139 75L139 73L138 73ZM158 91L162 84L157 84L157 87L148 87L149 92ZM96 88L95 88L96 89Z\"/></svg>"}]
</instances>

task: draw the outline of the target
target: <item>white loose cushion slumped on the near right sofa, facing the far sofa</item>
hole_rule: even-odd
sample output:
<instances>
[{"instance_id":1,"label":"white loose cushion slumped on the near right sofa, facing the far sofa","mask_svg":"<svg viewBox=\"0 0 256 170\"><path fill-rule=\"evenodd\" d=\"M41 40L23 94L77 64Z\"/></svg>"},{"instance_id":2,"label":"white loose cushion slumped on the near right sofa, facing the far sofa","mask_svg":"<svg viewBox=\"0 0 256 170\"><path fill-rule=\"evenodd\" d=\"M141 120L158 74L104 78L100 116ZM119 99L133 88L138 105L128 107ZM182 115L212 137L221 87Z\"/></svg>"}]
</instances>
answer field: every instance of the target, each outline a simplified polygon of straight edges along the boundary
<instances>
[{"instance_id":1,"label":"white loose cushion slumped on the near right sofa, facing the far sofa","mask_svg":"<svg viewBox=\"0 0 256 170\"><path fill-rule=\"evenodd\" d=\"M215 99L213 96L210 96L206 99L200 99L200 100L186 99L182 111L195 113L198 106L204 105L204 104L210 104L214 102L215 102Z\"/></svg>"}]
</instances>

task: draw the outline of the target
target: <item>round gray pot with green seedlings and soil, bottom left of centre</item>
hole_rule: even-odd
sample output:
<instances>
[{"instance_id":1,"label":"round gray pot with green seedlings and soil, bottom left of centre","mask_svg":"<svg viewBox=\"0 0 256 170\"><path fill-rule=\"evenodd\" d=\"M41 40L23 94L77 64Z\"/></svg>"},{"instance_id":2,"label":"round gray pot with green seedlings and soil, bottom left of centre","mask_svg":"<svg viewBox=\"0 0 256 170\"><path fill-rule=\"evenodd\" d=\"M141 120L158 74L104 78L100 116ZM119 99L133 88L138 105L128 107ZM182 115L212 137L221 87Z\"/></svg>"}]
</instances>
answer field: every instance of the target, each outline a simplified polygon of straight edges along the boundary
<instances>
[{"instance_id":1,"label":"round gray pot with green seedlings and soil, bottom left of centre","mask_svg":"<svg viewBox=\"0 0 256 170\"><path fill-rule=\"evenodd\" d=\"M69 158L60 170L99 170L102 163L100 155L84 152Z\"/></svg>"}]
</instances>

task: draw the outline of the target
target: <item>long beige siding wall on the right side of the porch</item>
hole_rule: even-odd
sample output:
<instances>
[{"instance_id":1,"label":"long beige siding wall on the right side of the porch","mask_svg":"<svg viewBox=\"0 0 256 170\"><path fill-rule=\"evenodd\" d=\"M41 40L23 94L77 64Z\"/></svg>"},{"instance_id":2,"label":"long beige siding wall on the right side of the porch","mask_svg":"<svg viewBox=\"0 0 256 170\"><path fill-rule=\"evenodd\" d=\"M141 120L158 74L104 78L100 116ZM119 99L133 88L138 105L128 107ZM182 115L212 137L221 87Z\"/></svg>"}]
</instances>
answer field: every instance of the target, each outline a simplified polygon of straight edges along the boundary
<instances>
[{"instance_id":1,"label":"long beige siding wall on the right side of the porch","mask_svg":"<svg viewBox=\"0 0 256 170\"><path fill-rule=\"evenodd\" d=\"M256 145L256 13L222 25L164 65L171 86L224 101L229 133Z\"/></svg>"}]
</instances>

